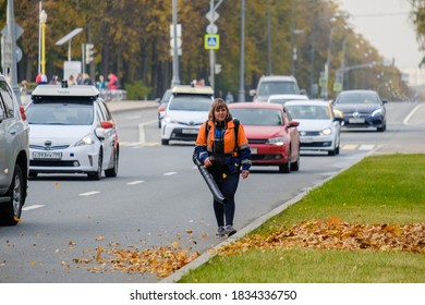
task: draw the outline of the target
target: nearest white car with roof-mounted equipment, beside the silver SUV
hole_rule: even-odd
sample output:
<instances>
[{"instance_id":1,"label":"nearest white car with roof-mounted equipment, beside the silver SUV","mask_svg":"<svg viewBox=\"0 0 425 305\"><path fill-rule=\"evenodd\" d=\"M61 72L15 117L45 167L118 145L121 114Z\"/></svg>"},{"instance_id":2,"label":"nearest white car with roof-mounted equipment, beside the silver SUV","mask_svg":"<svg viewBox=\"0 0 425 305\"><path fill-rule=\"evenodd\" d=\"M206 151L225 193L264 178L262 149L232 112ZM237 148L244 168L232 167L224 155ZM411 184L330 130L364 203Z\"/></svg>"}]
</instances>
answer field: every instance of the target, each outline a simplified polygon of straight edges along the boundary
<instances>
[{"instance_id":1,"label":"nearest white car with roof-mounted equipment, beside the silver SUV","mask_svg":"<svg viewBox=\"0 0 425 305\"><path fill-rule=\"evenodd\" d=\"M84 173L117 176L117 126L94 86L39 85L25 109L29 123L29 176Z\"/></svg>"}]
</instances>

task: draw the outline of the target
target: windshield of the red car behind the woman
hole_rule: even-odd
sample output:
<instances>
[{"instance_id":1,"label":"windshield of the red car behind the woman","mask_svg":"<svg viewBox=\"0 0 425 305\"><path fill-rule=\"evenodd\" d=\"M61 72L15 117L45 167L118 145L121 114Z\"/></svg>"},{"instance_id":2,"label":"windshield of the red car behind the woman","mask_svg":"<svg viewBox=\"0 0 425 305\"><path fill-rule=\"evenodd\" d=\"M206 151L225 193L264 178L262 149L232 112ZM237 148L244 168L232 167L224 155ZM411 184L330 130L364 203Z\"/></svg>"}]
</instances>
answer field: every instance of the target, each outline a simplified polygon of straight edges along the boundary
<instances>
[{"instance_id":1,"label":"windshield of the red car behind the woman","mask_svg":"<svg viewBox=\"0 0 425 305\"><path fill-rule=\"evenodd\" d=\"M230 112L244 125L283 125L282 112L278 109L234 108Z\"/></svg>"}]
</instances>

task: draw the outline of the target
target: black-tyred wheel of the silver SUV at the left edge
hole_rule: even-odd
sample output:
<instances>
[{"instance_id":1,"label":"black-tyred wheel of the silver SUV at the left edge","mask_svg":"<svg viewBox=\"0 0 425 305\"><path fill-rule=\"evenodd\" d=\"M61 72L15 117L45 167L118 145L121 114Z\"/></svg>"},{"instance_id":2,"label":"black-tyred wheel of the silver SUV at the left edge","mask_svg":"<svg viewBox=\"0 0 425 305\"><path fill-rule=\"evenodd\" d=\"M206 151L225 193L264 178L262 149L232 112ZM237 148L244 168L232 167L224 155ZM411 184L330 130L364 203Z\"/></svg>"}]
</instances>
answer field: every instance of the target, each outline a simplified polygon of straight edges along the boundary
<instances>
[{"instance_id":1,"label":"black-tyred wheel of the silver SUV at the left edge","mask_svg":"<svg viewBox=\"0 0 425 305\"><path fill-rule=\"evenodd\" d=\"M22 206L25 202L25 182L21 167L15 164L12 183L7 196L10 197L8 203L0 205L0 224L15 225L20 222Z\"/></svg>"}]
</instances>

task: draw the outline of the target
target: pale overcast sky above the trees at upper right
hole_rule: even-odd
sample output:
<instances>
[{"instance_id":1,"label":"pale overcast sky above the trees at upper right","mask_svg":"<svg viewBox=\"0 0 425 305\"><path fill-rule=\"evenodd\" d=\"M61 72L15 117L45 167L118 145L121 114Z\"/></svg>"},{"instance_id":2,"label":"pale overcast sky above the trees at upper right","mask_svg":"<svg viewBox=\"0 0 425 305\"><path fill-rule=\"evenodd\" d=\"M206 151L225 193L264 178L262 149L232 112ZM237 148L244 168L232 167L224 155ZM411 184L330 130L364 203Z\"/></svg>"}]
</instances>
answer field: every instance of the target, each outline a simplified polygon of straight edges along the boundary
<instances>
[{"instance_id":1,"label":"pale overcast sky above the trees at upper right","mask_svg":"<svg viewBox=\"0 0 425 305\"><path fill-rule=\"evenodd\" d=\"M420 73L424 52L418 50L416 33L409 13L409 0L337 0L340 9L350 14L349 24L362 34L386 59L410 74ZM423 72L423 71L422 71ZM425 83L417 75L411 83Z\"/></svg>"}]
</instances>

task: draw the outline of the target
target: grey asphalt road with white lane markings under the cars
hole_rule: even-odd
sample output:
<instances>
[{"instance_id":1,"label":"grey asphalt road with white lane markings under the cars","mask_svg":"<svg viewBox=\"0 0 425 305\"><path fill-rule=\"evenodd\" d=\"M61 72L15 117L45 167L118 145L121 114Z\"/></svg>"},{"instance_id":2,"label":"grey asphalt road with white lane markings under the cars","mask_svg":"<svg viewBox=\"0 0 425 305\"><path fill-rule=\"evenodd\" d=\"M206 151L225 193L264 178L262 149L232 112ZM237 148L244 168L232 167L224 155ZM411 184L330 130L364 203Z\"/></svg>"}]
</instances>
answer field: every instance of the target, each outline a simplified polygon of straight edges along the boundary
<instances>
[{"instance_id":1,"label":"grey asphalt road with white lane markings under the cars","mask_svg":"<svg viewBox=\"0 0 425 305\"><path fill-rule=\"evenodd\" d=\"M387 108L387 131L343 132L339 156L303 154L300 171L290 174L253 168L236 194L239 233L368 154L423 154L424 105ZM143 249L178 243L205 253L223 241L215 236L211 196L192 163L193 146L159 145L155 107L117 106L113 112L121 141L118 178L94 182L84 175L39 175L29 181L23 221L0 228L0 282L158 282L149 273L94 273L73 261L96 256L101 247Z\"/></svg>"}]
</instances>

